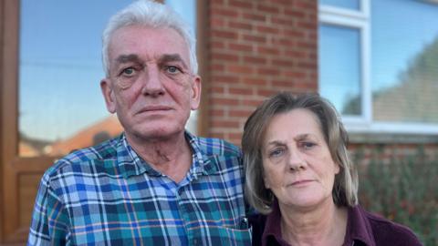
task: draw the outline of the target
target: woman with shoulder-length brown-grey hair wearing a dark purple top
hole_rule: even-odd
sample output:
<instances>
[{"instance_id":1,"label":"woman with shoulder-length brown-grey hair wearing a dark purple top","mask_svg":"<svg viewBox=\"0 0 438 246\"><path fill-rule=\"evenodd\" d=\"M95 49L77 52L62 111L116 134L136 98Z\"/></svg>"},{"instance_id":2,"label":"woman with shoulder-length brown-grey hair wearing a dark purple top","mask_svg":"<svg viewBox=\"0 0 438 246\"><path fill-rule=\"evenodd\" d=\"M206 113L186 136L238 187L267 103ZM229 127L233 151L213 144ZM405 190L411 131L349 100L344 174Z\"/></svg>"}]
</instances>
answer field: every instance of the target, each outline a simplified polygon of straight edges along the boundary
<instances>
[{"instance_id":1,"label":"woman with shoulder-length brown-grey hair wearing a dark purple top","mask_svg":"<svg viewBox=\"0 0 438 246\"><path fill-rule=\"evenodd\" d=\"M336 109L281 93L248 118L242 139L253 245L422 245L358 205L358 176Z\"/></svg>"}]
</instances>

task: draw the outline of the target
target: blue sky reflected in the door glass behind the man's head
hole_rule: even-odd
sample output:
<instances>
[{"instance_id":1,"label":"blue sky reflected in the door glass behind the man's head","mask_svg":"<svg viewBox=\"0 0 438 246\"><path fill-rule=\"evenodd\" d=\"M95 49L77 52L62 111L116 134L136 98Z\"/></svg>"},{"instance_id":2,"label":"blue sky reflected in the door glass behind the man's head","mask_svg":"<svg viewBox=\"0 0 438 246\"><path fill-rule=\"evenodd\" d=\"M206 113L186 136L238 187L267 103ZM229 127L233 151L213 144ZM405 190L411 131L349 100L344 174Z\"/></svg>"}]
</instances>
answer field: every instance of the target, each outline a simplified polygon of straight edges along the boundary
<instances>
[{"instance_id":1,"label":"blue sky reflected in the door glass behind the man's head","mask_svg":"<svg viewBox=\"0 0 438 246\"><path fill-rule=\"evenodd\" d=\"M19 130L56 140L110 115L101 96L101 33L131 0L22 0ZM184 2L184 5L182 3ZM194 25L195 0L166 1Z\"/></svg>"}]
</instances>

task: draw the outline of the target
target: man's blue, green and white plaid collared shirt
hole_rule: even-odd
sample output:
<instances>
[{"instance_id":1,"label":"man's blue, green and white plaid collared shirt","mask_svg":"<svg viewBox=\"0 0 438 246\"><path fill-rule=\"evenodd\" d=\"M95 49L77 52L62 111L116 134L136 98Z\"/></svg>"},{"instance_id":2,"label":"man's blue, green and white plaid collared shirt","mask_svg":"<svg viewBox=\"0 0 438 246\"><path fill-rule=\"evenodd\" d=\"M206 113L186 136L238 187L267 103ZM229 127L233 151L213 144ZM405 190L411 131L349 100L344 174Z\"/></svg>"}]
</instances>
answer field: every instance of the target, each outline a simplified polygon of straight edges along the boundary
<instances>
[{"instance_id":1,"label":"man's blue, green and white plaid collared shirt","mask_svg":"<svg viewBox=\"0 0 438 246\"><path fill-rule=\"evenodd\" d=\"M186 133L193 165L175 183L124 135L80 149L44 174L28 245L250 245L235 146Z\"/></svg>"}]
</instances>

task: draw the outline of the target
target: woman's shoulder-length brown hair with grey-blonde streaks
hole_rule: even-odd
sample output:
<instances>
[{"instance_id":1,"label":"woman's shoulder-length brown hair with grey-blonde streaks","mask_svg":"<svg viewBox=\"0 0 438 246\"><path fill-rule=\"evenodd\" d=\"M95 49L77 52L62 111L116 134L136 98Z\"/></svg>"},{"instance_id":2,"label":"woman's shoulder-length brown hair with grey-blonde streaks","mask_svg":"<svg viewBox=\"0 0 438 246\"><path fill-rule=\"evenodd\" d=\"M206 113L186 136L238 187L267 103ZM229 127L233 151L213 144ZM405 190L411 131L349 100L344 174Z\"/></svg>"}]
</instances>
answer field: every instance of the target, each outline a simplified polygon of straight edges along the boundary
<instances>
[{"instance_id":1,"label":"woman's shoulder-length brown hair with grey-blonde streaks","mask_svg":"<svg viewBox=\"0 0 438 246\"><path fill-rule=\"evenodd\" d=\"M358 174L349 159L347 150L348 136L336 109L317 94L305 94L294 97L282 92L267 99L255 109L246 120L242 137L242 150L245 163L245 196L249 203L261 213L272 210L275 199L272 191L267 190L263 179L262 146L266 128L274 116L296 108L308 109L318 118L318 124L328 145L331 158L339 164L339 173L335 176L332 197L338 206L354 206L358 203Z\"/></svg>"}]
</instances>

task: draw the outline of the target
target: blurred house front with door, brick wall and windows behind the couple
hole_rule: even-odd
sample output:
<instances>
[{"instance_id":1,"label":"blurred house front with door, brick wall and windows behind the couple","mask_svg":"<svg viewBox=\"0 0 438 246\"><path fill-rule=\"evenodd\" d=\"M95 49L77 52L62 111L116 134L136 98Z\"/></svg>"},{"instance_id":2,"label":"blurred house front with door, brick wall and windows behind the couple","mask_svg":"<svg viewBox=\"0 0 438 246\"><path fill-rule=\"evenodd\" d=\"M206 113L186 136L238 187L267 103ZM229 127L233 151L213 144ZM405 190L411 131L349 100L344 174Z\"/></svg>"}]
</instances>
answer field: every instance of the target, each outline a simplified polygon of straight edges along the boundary
<instances>
[{"instance_id":1,"label":"blurred house front with door, brick wall and windows behind the couple","mask_svg":"<svg viewBox=\"0 0 438 246\"><path fill-rule=\"evenodd\" d=\"M0 244L26 241L55 159L118 136L99 89L101 33L130 0L0 3ZM438 1L166 0L193 26L202 107L187 128L240 145L278 91L341 113L360 203L438 245Z\"/></svg>"}]
</instances>

